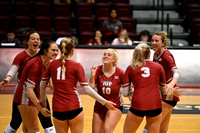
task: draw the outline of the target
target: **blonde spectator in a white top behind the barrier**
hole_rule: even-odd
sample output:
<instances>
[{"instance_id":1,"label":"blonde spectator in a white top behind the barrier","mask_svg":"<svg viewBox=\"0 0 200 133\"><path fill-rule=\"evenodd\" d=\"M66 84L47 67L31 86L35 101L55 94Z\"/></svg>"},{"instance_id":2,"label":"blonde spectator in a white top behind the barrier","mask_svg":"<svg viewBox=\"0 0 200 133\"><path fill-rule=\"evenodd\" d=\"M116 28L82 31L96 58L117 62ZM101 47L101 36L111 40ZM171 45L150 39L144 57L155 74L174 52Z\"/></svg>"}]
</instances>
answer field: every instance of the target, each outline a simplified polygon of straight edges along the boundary
<instances>
[{"instance_id":1,"label":"blonde spectator in a white top behind the barrier","mask_svg":"<svg viewBox=\"0 0 200 133\"><path fill-rule=\"evenodd\" d=\"M112 45L132 45L132 41L128 36L128 31L126 29L121 30L119 37L112 41Z\"/></svg>"}]
</instances>

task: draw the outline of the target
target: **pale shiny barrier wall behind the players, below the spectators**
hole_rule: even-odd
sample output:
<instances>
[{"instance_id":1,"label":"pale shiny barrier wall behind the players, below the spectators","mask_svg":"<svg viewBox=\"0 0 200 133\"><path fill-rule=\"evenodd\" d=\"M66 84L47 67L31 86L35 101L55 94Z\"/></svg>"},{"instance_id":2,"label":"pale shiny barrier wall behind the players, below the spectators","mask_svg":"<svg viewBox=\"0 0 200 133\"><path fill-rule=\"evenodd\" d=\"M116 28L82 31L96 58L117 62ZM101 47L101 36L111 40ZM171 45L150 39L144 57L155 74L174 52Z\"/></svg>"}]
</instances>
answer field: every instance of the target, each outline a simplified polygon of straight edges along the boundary
<instances>
[{"instance_id":1,"label":"pale shiny barrier wall behind the players, below the spectators","mask_svg":"<svg viewBox=\"0 0 200 133\"><path fill-rule=\"evenodd\" d=\"M15 56L23 50L23 48L0 48L0 80L6 76ZM181 73L179 83L200 83L200 50L169 50L174 55L177 67ZM72 59L83 65L88 79L90 67L102 64L101 58L104 51L105 49L77 48ZM133 49L117 49L117 51L119 53L118 66L125 71L130 64ZM153 51L151 55L153 55Z\"/></svg>"}]
</instances>

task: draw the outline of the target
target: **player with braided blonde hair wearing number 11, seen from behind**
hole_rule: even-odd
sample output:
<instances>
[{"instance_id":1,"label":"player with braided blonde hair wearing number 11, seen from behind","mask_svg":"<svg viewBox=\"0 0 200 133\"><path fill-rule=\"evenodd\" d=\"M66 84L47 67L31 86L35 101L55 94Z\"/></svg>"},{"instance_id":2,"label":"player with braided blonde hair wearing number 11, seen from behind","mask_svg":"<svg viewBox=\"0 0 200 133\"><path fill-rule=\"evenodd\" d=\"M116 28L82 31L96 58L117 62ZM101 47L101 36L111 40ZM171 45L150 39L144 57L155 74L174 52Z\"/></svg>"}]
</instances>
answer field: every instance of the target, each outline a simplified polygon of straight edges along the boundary
<instances>
[{"instance_id":1,"label":"player with braided blonde hair wearing number 11, seen from behind","mask_svg":"<svg viewBox=\"0 0 200 133\"><path fill-rule=\"evenodd\" d=\"M69 128L71 133L83 132L84 115L76 87L78 81L87 94L108 109L115 109L115 103L102 98L89 87L83 66L71 60L74 54L74 47L72 39L62 39L60 43L61 57L48 65L40 85L41 104L45 106L45 88L50 77L52 78L54 86L52 101L53 121L57 133L67 133Z\"/></svg>"}]
</instances>

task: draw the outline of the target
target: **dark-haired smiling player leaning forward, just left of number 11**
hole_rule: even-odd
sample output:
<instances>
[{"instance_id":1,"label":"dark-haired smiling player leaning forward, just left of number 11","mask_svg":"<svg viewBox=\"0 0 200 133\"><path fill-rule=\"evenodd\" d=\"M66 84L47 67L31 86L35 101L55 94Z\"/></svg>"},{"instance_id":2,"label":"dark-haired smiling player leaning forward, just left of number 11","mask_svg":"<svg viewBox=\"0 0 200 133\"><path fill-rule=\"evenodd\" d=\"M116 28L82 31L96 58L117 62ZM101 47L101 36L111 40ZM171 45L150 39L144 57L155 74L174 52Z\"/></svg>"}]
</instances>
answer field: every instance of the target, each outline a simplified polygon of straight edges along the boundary
<instances>
[{"instance_id":1,"label":"dark-haired smiling player leaning forward, just left of number 11","mask_svg":"<svg viewBox=\"0 0 200 133\"><path fill-rule=\"evenodd\" d=\"M56 59L57 55L57 44L53 41L44 41L40 51L27 62L21 73L13 102L20 111L23 121L23 132L39 133L38 112L42 112L42 108L38 104L40 100L39 84L47 64L50 60ZM48 110L45 111L49 112ZM48 113L44 115L48 116ZM53 130L54 128L48 132Z\"/></svg>"}]
</instances>

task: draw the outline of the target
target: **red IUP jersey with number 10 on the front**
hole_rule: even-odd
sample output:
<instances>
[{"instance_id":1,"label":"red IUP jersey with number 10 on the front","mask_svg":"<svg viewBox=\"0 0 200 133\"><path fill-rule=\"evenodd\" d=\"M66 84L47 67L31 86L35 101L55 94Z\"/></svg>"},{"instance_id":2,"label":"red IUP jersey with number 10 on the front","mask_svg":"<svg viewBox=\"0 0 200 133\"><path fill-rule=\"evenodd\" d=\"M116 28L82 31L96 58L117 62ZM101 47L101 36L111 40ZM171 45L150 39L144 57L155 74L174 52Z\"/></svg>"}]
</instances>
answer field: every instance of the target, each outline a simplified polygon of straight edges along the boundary
<instances>
[{"instance_id":1,"label":"red IUP jersey with number 10 on the front","mask_svg":"<svg viewBox=\"0 0 200 133\"><path fill-rule=\"evenodd\" d=\"M123 105L120 87L123 85L124 71L119 67L114 67L114 72L107 77L103 71L103 65L98 66L95 74L95 84L98 94L103 98L116 103L116 107ZM96 101L95 109L103 108L103 105Z\"/></svg>"}]
</instances>

